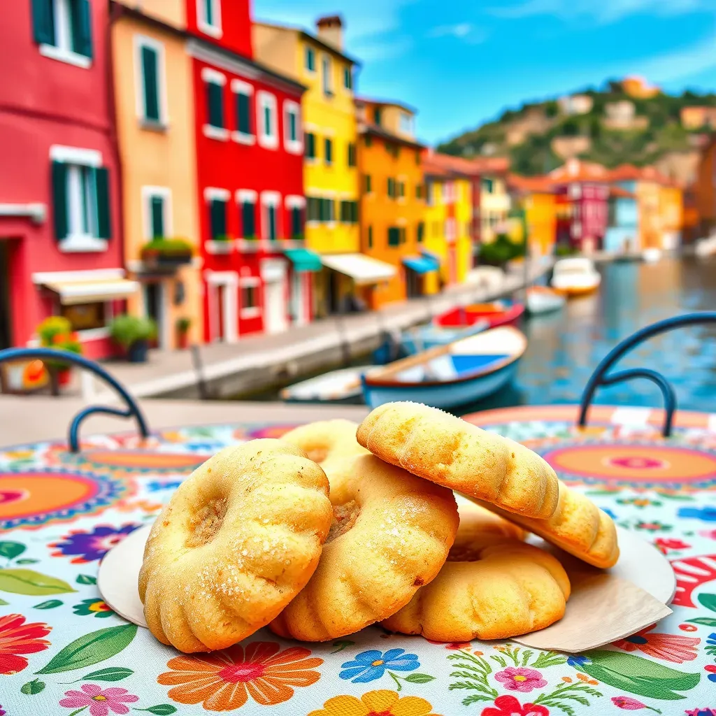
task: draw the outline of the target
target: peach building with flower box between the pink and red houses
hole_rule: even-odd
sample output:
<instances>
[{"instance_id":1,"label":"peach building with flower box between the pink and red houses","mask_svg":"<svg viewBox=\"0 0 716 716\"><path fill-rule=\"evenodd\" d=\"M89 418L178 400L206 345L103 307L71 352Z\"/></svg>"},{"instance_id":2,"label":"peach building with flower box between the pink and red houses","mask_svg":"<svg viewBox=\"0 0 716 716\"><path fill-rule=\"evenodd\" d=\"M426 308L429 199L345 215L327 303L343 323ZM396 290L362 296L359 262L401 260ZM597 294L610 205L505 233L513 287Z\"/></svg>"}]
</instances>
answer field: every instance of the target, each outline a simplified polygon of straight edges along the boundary
<instances>
[{"instance_id":1,"label":"peach building with flower box between the pink and red houses","mask_svg":"<svg viewBox=\"0 0 716 716\"><path fill-rule=\"evenodd\" d=\"M128 307L155 319L158 345L170 349L178 344L179 319L190 320L190 341L203 335L193 82L179 32L185 0L145 0L142 14L131 9L134 2L125 5L113 5L111 44L125 263L142 285ZM187 263L142 253L150 241L161 247L178 238L194 248Z\"/></svg>"}]
</instances>

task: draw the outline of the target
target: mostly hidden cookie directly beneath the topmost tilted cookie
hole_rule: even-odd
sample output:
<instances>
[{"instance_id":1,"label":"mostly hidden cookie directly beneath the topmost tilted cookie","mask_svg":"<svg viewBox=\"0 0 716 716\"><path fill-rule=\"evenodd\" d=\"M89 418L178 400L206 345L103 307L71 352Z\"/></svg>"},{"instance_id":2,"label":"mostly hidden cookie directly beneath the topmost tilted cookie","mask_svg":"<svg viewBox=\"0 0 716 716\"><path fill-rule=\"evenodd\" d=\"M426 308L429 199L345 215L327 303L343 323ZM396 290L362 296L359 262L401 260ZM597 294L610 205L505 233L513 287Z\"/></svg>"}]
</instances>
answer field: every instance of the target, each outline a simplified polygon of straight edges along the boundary
<instances>
[{"instance_id":1,"label":"mostly hidden cookie directly beneath the topmost tilted cookie","mask_svg":"<svg viewBox=\"0 0 716 716\"><path fill-rule=\"evenodd\" d=\"M488 503L481 504L595 567L607 569L619 559L616 527L611 517L561 481L557 509L548 520L532 520L500 511Z\"/></svg>"}]
</instances>

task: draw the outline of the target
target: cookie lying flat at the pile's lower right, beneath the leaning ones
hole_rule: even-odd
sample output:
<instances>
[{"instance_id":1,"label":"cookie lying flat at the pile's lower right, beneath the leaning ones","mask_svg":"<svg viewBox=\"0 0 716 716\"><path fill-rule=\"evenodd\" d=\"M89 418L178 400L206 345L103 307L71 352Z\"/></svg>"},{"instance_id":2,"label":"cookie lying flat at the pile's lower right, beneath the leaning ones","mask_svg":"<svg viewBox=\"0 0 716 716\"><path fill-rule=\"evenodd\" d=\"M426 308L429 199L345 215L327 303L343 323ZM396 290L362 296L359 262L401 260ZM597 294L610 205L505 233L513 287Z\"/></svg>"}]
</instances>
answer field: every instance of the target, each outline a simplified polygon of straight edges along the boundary
<instances>
[{"instance_id":1,"label":"cookie lying flat at the pile's lower right, beneath the leaning ones","mask_svg":"<svg viewBox=\"0 0 716 716\"><path fill-rule=\"evenodd\" d=\"M561 619L569 592L569 578L551 554L503 542L485 547L473 561L446 562L382 626L436 642L508 639Z\"/></svg>"}]
</instances>

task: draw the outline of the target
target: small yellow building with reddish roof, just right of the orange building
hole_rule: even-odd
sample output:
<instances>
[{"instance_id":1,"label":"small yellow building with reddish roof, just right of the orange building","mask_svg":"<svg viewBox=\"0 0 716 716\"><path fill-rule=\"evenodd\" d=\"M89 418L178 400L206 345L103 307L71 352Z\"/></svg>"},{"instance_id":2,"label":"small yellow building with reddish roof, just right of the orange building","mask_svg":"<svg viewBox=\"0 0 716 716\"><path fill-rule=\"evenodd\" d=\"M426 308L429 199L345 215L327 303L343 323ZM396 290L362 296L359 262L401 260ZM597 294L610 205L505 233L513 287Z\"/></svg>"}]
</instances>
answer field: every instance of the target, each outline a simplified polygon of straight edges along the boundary
<instances>
[{"instance_id":1,"label":"small yellow building with reddish roof, just right of the orange building","mask_svg":"<svg viewBox=\"0 0 716 716\"><path fill-rule=\"evenodd\" d=\"M475 162L427 153L423 158L427 187L425 246L440 258L440 284L460 284L473 267L477 246L474 217L479 200Z\"/></svg>"}]
</instances>

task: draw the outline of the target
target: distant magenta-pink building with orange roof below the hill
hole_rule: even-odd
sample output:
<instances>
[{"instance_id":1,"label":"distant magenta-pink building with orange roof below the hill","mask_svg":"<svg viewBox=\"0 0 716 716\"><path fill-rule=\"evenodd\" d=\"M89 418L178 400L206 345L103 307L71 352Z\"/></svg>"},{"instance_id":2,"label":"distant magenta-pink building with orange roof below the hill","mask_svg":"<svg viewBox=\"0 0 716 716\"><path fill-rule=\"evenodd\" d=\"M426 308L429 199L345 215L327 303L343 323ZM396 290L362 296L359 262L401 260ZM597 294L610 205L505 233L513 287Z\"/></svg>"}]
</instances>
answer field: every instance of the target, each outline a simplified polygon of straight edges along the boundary
<instances>
[{"instance_id":1,"label":"distant magenta-pink building with orange roof below the hill","mask_svg":"<svg viewBox=\"0 0 716 716\"><path fill-rule=\"evenodd\" d=\"M556 194L556 242L589 253L602 248L609 224L609 171L570 159L548 174Z\"/></svg>"}]
</instances>

